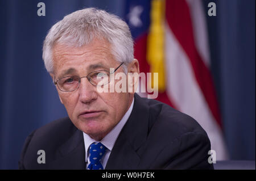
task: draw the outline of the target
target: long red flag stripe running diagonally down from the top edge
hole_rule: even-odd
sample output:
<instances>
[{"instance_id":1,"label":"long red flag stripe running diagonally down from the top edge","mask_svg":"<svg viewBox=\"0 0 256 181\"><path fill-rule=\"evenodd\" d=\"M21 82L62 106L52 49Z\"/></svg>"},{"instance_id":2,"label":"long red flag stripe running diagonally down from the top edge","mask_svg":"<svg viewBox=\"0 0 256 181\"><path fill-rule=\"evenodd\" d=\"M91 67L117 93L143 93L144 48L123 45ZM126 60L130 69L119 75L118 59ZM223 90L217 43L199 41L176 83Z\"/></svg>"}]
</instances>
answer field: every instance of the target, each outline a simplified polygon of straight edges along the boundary
<instances>
[{"instance_id":1,"label":"long red flag stripe running diagonally down from the top edge","mask_svg":"<svg viewBox=\"0 0 256 181\"><path fill-rule=\"evenodd\" d=\"M212 111L214 119L221 127L220 112L212 77L196 49L189 7L185 0L166 1L166 19L176 39L191 61L200 89Z\"/></svg>"}]
</instances>

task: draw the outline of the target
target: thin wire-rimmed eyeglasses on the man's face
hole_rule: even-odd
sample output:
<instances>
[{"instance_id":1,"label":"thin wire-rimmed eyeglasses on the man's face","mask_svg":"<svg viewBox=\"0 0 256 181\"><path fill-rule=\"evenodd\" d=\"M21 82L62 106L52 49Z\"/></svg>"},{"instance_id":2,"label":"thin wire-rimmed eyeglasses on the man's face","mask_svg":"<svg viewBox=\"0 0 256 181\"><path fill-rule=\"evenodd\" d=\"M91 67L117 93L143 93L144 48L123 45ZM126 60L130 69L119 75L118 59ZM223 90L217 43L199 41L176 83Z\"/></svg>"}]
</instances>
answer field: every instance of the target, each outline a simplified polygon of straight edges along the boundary
<instances>
[{"instance_id":1,"label":"thin wire-rimmed eyeglasses on the man's face","mask_svg":"<svg viewBox=\"0 0 256 181\"><path fill-rule=\"evenodd\" d=\"M112 73L110 73L108 70L97 70L97 71L92 71L85 77L94 86L104 86L111 81L110 74L113 74L115 71L117 71L117 69L122 64L120 64ZM67 76L67 77L57 79L57 81L55 81L55 77L54 77L53 83L57 85L59 90L63 92L70 92L78 89L81 83L81 78L85 78L85 77Z\"/></svg>"}]
</instances>

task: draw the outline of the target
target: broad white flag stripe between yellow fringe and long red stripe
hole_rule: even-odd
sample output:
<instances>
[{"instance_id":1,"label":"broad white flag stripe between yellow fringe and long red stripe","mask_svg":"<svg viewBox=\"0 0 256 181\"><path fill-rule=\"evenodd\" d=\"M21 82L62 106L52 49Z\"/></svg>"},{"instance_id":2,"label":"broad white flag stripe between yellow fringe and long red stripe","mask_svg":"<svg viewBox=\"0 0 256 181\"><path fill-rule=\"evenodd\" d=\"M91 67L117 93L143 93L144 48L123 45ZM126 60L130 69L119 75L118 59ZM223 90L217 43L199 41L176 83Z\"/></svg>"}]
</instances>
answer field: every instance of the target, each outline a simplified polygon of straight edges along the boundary
<instances>
[{"instance_id":1,"label":"broad white flag stripe between yellow fringe and long red stripe","mask_svg":"<svg viewBox=\"0 0 256 181\"><path fill-rule=\"evenodd\" d=\"M166 82L167 95L177 109L193 117L207 132L217 160L227 158L224 140L195 79L187 54L166 23Z\"/></svg>"}]
</instances>

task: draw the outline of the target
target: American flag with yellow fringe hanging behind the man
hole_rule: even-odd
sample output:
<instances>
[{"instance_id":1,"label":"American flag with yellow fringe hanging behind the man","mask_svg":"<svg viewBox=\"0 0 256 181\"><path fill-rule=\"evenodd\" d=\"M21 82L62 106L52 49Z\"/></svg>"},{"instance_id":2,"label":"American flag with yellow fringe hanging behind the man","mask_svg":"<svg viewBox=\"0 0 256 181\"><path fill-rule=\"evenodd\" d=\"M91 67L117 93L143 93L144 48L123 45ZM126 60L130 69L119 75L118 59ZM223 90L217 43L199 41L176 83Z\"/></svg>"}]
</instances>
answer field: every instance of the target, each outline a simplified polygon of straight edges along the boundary
<instances>
[{"instance_id":1,"label":"American flag with yellow fringe hanging behind the man","mask_svg":"<svg viewBox=\"0 0 256 181\"><path fill-rule=\"evenodd\" d=\"M200 0L132 0L125 20L141 72L158 72L157 100L187 113L207 132L217 160L228 158L210 73L207 14ZM145 85L147 82L142 82Z\"/></svg>"}]
</instances>

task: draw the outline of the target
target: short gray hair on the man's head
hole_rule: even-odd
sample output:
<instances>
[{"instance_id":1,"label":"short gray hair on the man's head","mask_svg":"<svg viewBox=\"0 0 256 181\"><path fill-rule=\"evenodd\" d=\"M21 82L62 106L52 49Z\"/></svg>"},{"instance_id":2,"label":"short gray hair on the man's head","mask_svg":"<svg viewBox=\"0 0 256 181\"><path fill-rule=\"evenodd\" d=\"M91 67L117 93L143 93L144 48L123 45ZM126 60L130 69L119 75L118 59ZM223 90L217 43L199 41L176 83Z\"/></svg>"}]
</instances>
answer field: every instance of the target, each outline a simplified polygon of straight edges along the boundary
<instances>
[{"instance_id":1,"label":"short gray hair on the man's head","mask_svg":"<svg viewBox=\"0 0 256 181\"><path fill-rule=\"evenodd\" d=\"M82 47L94 38L109 41L115 60L127 64L133 61L133 38L129 27L118 16L95 8L82 9L65 16L49 30L43 44L44 65L53 73L52 49L55 43Z\"/></svg>"}]
</instances>

